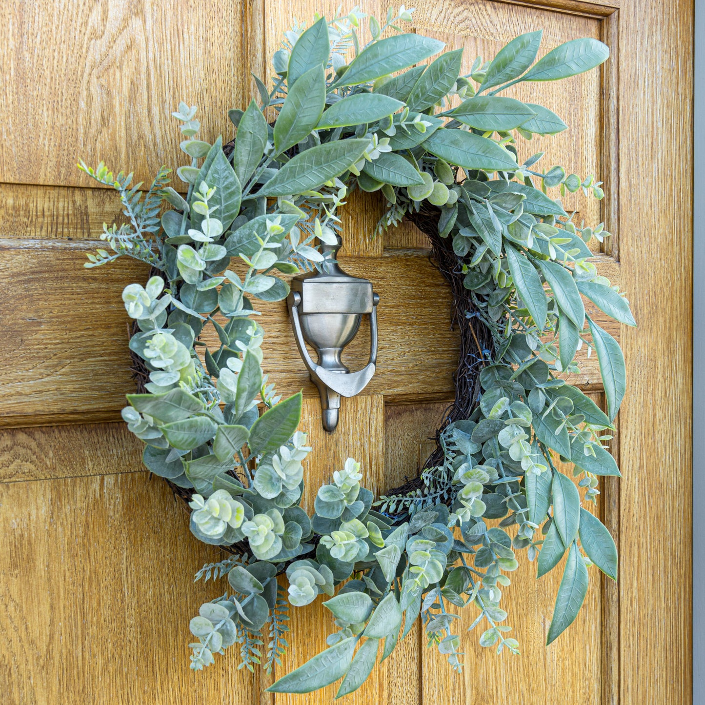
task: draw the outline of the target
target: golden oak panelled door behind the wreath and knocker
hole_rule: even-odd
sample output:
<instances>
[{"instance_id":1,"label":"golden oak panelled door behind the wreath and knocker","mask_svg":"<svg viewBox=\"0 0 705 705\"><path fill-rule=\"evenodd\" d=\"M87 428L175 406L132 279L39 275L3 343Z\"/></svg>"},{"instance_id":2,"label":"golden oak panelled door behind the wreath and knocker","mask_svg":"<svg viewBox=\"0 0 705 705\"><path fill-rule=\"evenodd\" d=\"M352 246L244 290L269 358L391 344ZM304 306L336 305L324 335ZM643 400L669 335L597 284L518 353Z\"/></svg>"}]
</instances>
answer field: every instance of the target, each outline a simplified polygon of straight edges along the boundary
<instances>
[{"instance_id":1,"label":"golden oak panelled door behind the wreath and knocker","mask_svg":"<svg viewBox=\"0 0 705 705\"><path fill-rule=\"evenodd\" d=\"M144 278L120 263L86 272L114 194L75 168L82 157L147 179L178 155L168 113L202 106L206 138L229 135L250 71L269 73L291 18L337 0L37 0L4 4L0 57L0 688L13 704L283 704L237 654L188 670L188 620L219 585L192 582L218 553L193 539L183 505L149 477L140 443L119 421L128 370L121 289ZM376 1L363 9L382 14ZM386 12L386 6L384 6ZM606 200L575 197L613 238L599 266L625 289L639 328L613 329L629 388L618 423L623 479L603 484L599 511L618 539L620 582L593 570L580 617L544 647L560 573L534 580L522 561L505 593L522 656L465 636L455 675L416 630L350 701L539 704L680 703L690 698L690 292L692 3L687 0L419 0L415 29L489 58L544 29L542 51L574 37L611 47L600 72L534 84L570 129L549 138L552 163L605 181ZM465 67L467 71L468 66ZM527 99L529 89L517 87ZM536 139L537 151L541 140ZM348 455L377 493L414 474L453 393L457 341L450 297L405 225L372 240L381 203L350 199L342 262L381 295L379 369L345 400L332 435L320 425L283 305L265 311L266 369L281 391L303 388L311 434L309 487ZM104 308L108 307L108 308ZM362 337L364 338L363 331ZM350 361L364 357L364 341ZM602 403L595 360L572 379ZM644 548L649 537L651 548ZM654 537L661 541L654 542ZM322 642L320 601L296 611L286 668ZM466 618L467 619L467 618ZM472 620L472 617L470 617ZM460 632L462 633L462 632ZM308 702L329 702L333 691Z\"/></svg>"}]
</instances>

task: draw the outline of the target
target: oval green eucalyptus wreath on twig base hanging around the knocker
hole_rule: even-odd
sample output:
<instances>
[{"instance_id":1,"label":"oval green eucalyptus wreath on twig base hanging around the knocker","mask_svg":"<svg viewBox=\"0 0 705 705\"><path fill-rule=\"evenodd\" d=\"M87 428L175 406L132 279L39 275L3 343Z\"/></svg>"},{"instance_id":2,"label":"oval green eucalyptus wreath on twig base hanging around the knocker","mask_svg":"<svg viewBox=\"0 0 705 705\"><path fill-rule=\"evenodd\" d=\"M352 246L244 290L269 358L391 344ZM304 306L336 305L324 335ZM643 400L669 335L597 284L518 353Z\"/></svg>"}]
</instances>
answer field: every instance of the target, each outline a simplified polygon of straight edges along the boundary
<instances>
[{"instance_id":1,"label":"oval green eucalyptus wreath on twig base hanging around the knocker","mask_svg":"<svg viewBox=\"0 0 705 705\"><path fill-rule=\"evenodd\" d=\"M429 644L460 670L462 608L476 615L471 630L484 625L482 646L518 653L500 602L519 551L537 560L537 577L568 554L548 644L575 620L590 565L617 576L614 541L584 505L599 495L599 476L619 475L606 443L625 364L582 296L635 321L590 259L588 241L609 233L577 226L548 195L601 199L601 183L560 166L541 171L541 152L519 156L533 135L565 123L499 95L587 71L608 49L575 39L534 63L541 32L529 32L460 75L462 50L440 53L442 42L400 29L411 10L390 10L384 24L369 17L362 45L364 18L355 8L286 32L271 85L256 79L259 104L230 111L236 135L226 144L200 140L196 107L180 103L173 116L191 158L176 170L180 192L167 168L145 192L131 174L80 164L118 191L125 214L104 226L109 250L85 266L127 255L152 270L145 286L123 291L138 386L123 419L145 441L147 468L188 502L192 534L228 553L196 575L228 587L190 622L191 668L239 644L238 668L271 671L290 607L326 595L329 648L274 692L341 678L338 697L353 692L380 646L384 661L419 616ZM319 245L336 243L338 209L355 188L386 199L378 232L406 217L429 236L460 329L458 393L412 482L375 498L349 458L310 514L300 506L312 450L298 430L302 396L282 400L264 374L255 306L286 298L286 275L323 266L331 255ZM200 340L204 326L217 349ZM582 345L598 357L607 413L560 376L577 372Z\"/></svg>"}]
</instances>

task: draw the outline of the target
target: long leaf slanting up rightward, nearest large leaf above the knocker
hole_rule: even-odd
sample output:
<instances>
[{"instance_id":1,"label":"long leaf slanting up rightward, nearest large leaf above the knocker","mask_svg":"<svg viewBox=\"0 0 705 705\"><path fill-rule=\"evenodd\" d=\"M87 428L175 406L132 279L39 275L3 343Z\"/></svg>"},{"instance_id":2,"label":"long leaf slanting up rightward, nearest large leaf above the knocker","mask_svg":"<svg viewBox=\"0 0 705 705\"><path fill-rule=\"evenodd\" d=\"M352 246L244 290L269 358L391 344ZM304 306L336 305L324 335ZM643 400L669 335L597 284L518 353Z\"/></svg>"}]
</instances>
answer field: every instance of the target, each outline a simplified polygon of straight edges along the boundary
<instances>
[{"instance_id":1,"label":"long leaf slanting up rightward, nearest large leaf above the knocker","mask_svg":"<svg viewBox=\"0 0 705 705\"><path fill-rule=\"evenodd\" d=\"M369 140L336 140L311 147L284 166L257 192L259 196L286 196L319 188L360 161Z\"/></svg>"}]
</instances>

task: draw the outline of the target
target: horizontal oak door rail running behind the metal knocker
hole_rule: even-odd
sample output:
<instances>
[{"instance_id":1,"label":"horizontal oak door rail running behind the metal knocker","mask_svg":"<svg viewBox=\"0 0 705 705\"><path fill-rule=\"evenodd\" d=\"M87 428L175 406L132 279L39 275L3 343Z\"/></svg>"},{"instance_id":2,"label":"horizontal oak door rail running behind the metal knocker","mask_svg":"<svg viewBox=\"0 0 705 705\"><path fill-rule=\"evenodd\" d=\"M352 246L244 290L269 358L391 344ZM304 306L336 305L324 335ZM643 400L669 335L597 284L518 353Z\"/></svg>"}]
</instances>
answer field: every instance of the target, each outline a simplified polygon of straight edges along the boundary
<instances>
[{"instance_id":1,"label":"horizontal oak door rail running behind the metal knocker","mask_svg":"<svg viewBox=\"0 0 705 705\"><path fill-rule=\"evenodd\" d=\"M85 251L94 244L0 240L0 300L5 303L0 323L15 341L12 365L0 372L1 425L115 420L125 394L133 390L121 292L130 281L143 281L146 267L123 259L82 269ZM620 281L611 259L599 262L606 276ZM341 264L350 274L372 278L381 296L379 357L369 393L396 400L446 398L453 390L458 343L449 328L450 295L439 272L418 251L341 257ZM280 391L303 389L309 397L318 396L295 348L286 303L258 302L257 307L266 321L265 365ZM596 320L619 336L618 324L601 314ZM368 329L364 321L343 355L351 369L367 364ZM202 338L219 345L211 326ZM582 372L571 376L572 384L599 384L596 364L595 356L581 360Z\"/></svg>"}]
</instances>

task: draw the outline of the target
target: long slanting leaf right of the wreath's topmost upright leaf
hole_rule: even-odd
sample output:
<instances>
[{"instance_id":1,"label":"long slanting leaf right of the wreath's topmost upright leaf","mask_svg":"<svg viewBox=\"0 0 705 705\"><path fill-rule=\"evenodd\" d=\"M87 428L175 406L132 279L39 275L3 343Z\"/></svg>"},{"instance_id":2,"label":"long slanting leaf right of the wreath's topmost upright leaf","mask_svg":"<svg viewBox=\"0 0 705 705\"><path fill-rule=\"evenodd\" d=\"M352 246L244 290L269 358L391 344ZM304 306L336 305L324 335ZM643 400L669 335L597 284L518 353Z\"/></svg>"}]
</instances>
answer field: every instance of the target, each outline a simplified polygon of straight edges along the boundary
<instances>
[{"instance_id":1,"label":"long slanting leaf right of the wreath's topmost upright leaf","mask_svg":"<svg viewBox=\"0 0 705 705\"><path fill-rule=\"evenodd\" d=\"M336 87L374 81L388 73L396 73L414 63L438 54L446 45L438 39L421 35L393 35L370 44L350 62L348 70L336 81Z\"/></svg>"}]
</instances>

